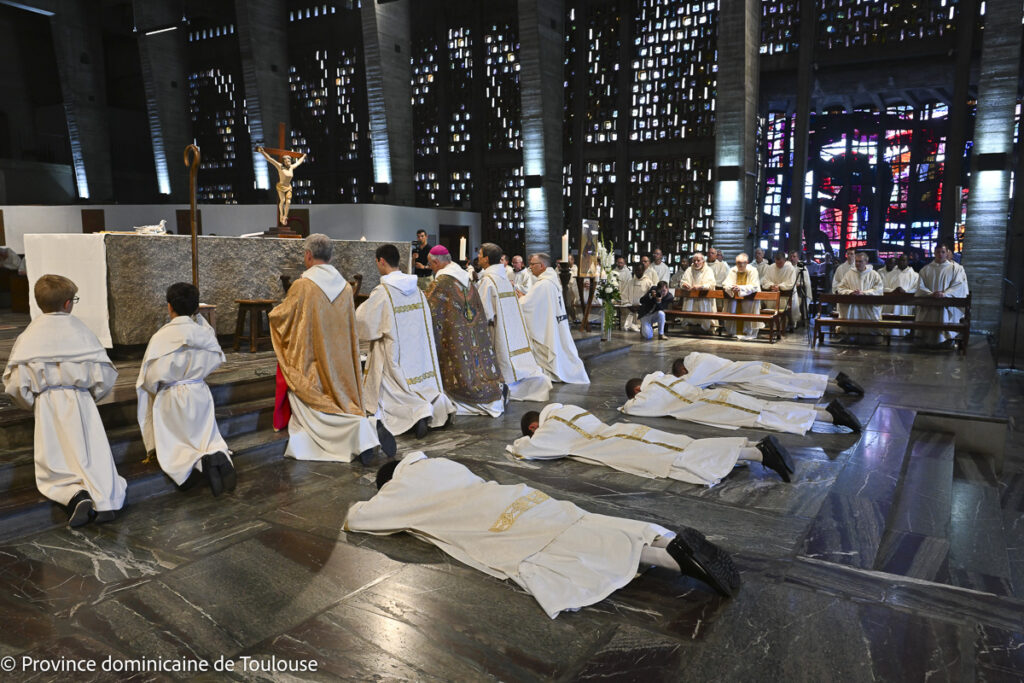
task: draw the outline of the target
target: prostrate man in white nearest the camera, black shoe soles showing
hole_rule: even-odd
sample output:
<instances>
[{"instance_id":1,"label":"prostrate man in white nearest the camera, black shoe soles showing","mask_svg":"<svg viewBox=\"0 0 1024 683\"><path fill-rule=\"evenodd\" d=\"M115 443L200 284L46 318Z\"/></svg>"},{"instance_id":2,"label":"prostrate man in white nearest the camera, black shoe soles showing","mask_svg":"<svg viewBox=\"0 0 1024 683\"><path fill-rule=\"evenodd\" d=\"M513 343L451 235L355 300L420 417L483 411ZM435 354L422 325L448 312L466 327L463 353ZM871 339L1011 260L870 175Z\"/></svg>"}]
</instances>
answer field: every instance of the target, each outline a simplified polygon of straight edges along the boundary
<instances>
[{"instance_id":1,"label":"prostrate man in white nearest the camera, black shoe soles showing","mask_svg":"<svg viewBox=\"0 0 1024 683\"><path fill-rule=\"evenodd\" d=\"M409 531L469 566L511 580L548 616L600 602L641 564L693 577L725 596L740 584L728 553L696 529L592 514L524 483L484 481L466 466L411 453L377 473L376 496L345 531Z\"/></svg>"}]
</instances>

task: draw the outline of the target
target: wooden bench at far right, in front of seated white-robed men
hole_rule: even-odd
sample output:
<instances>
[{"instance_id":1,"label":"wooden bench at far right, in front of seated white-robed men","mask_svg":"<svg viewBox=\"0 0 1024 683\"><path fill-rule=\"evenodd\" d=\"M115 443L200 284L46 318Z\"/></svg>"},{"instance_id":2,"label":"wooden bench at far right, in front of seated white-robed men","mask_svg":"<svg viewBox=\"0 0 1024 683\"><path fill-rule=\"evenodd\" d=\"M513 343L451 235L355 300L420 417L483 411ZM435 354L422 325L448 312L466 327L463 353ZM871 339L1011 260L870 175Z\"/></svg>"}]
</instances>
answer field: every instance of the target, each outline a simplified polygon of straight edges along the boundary
<instances>
[{"instance_id":1,"label":"wooden bench at far right, in front of seated white-robed men","mask_svg":"<svg viewBox=\"0 0 1024 683\"><path fill-rule=\"evenodd\" d=\"M962 299L952 297L915 296L913 294L883 294L870 296L864 294L822 294L818 297L821 303L847 304L854 306L927 306L930 308L963 308L964 317L959 323L927 323L916 321L910 315L884 314L881 321L859 321L842 317L814 318L813 344L824 343L825 332L836 334L838 327L873 330L923 330L930 332L956 332L956 347L961 355L967 353L967 345L971 338L971 295ZM886 335L886 344L891 344L892 336Z\"/></svg>"}]
</instances>

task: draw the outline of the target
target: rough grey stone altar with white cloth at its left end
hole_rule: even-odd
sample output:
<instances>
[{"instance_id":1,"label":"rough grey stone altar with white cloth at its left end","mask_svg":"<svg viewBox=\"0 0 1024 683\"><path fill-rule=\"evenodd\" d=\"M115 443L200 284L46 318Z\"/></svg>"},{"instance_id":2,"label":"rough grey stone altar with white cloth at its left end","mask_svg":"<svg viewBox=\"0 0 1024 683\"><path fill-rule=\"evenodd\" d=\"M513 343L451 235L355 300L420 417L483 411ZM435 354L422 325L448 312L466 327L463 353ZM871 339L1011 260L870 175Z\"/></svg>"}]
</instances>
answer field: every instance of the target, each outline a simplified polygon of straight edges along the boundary
<instances>
[{"instance_id":1,"label":"rough grey stone altar with white cloth at its left end","mask_svg":"<svg viewBox=\"0 0 1024 683\"><path fill-rule=\"evenodd\" d=\"M69 234L59 236L59 241L52 240L56 236L26 237L32 238L26 240L26 260L35 266L30 265L33 282L45 272L60 273L57 267L48 268L46 264L50 259L55 263L61 261L53 258L60 254L52 254L52 250L72 251L76 250L78 241L102 240L106 271L105 312L110 341L114 346L147 343L168 319L164 299L167 287L176 282L191 282L188 236ZM380 283L374 252L383 244L398 248L400 267L409 272L412 247L408 242L333 242L332 263L345 278L361 273L360 291L364 294ZM198 245L200 296L203 303L217 306L218 335L234 333L236 299L284 298L281 275L297 278L304 269L301 240L200 237ZM67 254L62 260L68 260ZM99 269L103 264L93 263L92 266ZM61 274L76 280L74 273ZM103 339L100 331L93 332Z\"/></svg>"}]
</instances>

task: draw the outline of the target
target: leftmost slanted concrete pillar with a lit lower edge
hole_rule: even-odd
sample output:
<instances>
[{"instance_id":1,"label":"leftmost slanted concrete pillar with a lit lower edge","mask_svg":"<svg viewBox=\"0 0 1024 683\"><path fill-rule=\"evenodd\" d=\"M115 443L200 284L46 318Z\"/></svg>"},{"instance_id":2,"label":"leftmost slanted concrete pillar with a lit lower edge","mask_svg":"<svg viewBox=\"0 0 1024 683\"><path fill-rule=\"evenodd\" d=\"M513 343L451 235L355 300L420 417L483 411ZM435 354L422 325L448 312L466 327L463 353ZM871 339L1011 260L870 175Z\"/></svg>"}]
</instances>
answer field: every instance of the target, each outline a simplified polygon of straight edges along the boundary
<instances>
[{"instance_id":1,"label":"leftmost slanted concrete pillar with a lit lower edge","mask_svg":"<svg viewBox=\"0 0 1024 683\"><path fill-rule=\"evenodd\" d=\"M62 2L56 9L50 26L78 194L111 202L114 176L100 13L88 2Z\"/></svg>"}]
</instances>

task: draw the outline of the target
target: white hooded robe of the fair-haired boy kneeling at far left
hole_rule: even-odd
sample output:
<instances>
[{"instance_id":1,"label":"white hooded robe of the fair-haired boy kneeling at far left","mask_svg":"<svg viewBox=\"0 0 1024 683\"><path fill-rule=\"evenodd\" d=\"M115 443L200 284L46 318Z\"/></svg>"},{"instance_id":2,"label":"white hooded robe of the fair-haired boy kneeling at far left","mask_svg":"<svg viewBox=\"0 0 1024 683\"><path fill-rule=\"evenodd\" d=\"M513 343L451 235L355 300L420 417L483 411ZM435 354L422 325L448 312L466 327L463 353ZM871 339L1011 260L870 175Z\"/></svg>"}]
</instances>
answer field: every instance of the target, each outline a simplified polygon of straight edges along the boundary
<instances>
[{"instance_id":1,"label":"white hooded robe of the fair-haired boy kneeling at far left","mask_svg":"<svg viewBox=\"0 0 1024 683\"><path fill-rule=\"evenodd\" d=\"M86 490L97 511L124 505L127 483L96 410L117 378L96 335L74 315L39 315L14 342L4 390L35 413L36 485L51 501L68 505Z\"/></svg>"}]
</instances>

